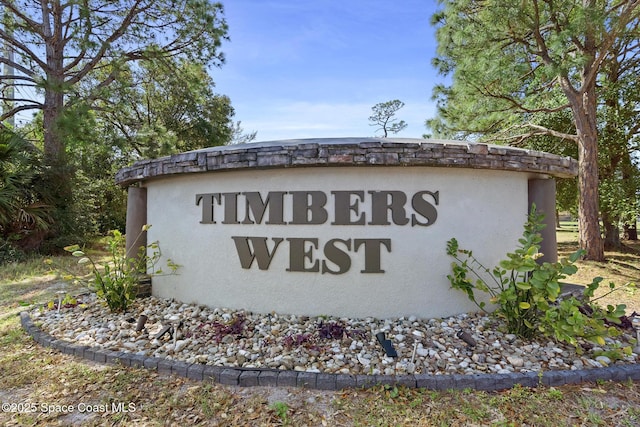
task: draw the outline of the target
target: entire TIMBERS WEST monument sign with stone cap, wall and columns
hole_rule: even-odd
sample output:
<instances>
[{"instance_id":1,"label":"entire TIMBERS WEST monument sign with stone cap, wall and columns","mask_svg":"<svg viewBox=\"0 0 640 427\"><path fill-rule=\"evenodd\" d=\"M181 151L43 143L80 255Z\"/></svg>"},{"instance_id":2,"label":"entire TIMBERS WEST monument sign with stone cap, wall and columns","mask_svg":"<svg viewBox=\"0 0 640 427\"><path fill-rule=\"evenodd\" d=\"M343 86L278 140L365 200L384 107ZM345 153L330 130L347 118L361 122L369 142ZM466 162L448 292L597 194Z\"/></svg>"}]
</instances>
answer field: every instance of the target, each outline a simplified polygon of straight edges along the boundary
<instances>
[{"instance_id":1,"label":"entire TIMBERS WEST monument sign with stone cap, wall and columns","mask_svg":"<svg viewBox=\"0 0 640 427\"><path fill-rule=\"evenodd\" d=\"M555 184L570 158L419 139L272 141L122 169L127 235L181 264L153 294L255 312L443 317L474 310L450 289L446 242L486 265L512 251L532 203L555 260ZM138 246L142 242L128 242Z\"/></svg>"}]
</instances>

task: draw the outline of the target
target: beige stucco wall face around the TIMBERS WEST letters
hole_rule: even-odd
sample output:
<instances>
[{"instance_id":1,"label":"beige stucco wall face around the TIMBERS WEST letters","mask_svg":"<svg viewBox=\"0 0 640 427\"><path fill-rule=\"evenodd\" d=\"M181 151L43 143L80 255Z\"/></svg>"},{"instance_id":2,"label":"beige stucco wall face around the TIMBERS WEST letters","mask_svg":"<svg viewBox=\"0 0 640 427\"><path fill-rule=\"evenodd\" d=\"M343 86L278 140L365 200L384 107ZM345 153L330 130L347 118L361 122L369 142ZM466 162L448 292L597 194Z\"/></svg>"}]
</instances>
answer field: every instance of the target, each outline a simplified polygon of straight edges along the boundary
<instances>
[{"instance_id":1,"label":"beige stucco wall face around the TIMBERS WEST letters","mask_svg":"<svg viewBox=\"0 0 640 427\"><path fill-rule=\"evenodd\" d=\"M474 311L467 297L450 289L451 259L446 241L456 237L492 267L515 248L527 214L530 174L436 167L326 167L245 169L166 177L148 181L148 241L181 264L177 275L154 277L153 293L189 303L256 312L349 317L431 318ZM319 225L202 224L196 194L259 191L323 191L329 220ZM430 226L331 225L331 191L363 190L361 212L370 218L368 191L439 192L438 217ZM243 212L243 205L239 204ZM215 215L222 214L217 207ZM413 212L409 205L407 211ZM240 214L242 219L243 213ZM291 215L285 198L285 220ZM221 217L218 217L222 219ZM231 236L317 238L314 259L333 238L388 238L382 248L384 273L361 273L364 248L350 251L351 268L339 275L290 272L289 242L278 246L268 270L240 265ZM269 247L272 241L269 240Z\"/></svg>"}]
</instances>

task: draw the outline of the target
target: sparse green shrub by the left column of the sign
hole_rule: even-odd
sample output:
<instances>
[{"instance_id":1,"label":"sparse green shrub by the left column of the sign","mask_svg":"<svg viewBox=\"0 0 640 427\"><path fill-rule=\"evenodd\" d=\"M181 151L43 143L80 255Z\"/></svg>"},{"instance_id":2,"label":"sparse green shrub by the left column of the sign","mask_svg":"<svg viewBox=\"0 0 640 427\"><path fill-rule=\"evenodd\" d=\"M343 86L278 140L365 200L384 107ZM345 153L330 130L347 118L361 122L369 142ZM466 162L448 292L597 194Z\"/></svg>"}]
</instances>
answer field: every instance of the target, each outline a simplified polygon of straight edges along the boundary
<instances>
[{"instance_id":1,"label":"sparse green shrub by the left column of the sign","mask_svg":"<svg viewBox=\"0 0 640 427\"><path fill-rule=\"evenodd\" d=\"M142 232L149 229L145 225ZM80 250L78 245L67 246L65 251L79 257L79 264L88 264L93 273L89 287L99 298L106 301L112 312L126 311L129 304L136 298L138 282L146 275L160 275L162 270L155 267L160 260L161 252L158 242L140 248L137 256L130 256L125 251L125 236L117 230L111 231L107 240L109 260L97 263L94 259ZM167 260L167 267L175 273L178 265Z\"/></svg>"}]
</instances>

